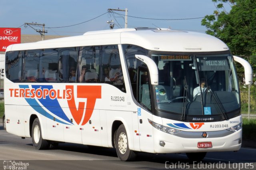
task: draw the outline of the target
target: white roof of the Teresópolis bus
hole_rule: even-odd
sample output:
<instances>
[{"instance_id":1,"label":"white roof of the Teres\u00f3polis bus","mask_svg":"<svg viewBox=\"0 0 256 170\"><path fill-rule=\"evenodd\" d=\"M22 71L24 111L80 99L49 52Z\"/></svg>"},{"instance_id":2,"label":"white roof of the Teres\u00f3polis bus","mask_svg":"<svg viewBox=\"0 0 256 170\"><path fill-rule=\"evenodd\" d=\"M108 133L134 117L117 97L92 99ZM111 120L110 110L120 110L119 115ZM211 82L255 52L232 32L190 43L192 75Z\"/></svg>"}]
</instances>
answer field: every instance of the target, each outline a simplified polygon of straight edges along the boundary
<instances>
[{"instance_id":1,"label":"white roof of the Teres\u00f3polis bus","mask_svg":"<svg viewBox=\"0 0 256 170\"><path fill-rule=\"evenodd\" d=\"M149 50L177 52L226 51L229 49L224 42L208 34L156 28L126 28L92 31L81 36L35 43L14 44L8 46L6 51L108 44L134 44Z\"/></svg>"}]
</instances>

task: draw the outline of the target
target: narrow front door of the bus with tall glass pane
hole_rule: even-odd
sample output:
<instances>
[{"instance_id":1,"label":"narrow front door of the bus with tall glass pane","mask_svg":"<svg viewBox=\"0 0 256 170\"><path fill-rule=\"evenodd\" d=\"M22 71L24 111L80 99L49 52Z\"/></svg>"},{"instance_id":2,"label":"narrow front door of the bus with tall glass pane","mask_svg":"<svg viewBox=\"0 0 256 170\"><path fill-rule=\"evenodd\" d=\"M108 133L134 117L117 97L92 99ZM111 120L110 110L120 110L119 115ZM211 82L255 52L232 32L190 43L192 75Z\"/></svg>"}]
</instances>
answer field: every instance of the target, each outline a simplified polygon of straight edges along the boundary
<instances>
[{"instance_id":1,"label":"narrow front door of the bus with tall glass pane","mask_svg":"<svg viewBox=\"0 0 256 170\"><path fill-rule=\"evenodd\" d=\"M139 125L139 137L140 137L140 150L142 152L154 152L153 144L153 127L148 122L148 119L152 120L151 99L150 99L150 81L148 69L144 67L138 68L138 89L137 89L137 101L138 101L138 125Z\"/></svg>"}]
</instances>

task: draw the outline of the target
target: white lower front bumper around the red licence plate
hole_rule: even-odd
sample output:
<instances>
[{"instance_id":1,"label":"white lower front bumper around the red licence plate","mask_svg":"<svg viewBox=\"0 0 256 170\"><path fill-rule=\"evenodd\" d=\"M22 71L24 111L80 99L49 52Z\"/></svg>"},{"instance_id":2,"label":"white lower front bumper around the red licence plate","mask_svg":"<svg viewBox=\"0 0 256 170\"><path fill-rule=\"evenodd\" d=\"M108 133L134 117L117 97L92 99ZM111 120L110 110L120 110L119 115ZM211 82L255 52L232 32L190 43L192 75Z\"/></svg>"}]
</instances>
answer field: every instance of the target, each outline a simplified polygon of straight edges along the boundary
<instances>
[{"instance_id":1,"label":"white lower front bumper around the red licence plate","mask_svg":"<svg viewBox=\"0 0 256 170\"><path fill-rule=\"evenodd\" d=\"M154 129L156 131L157 129ZM228 131L228 130L227 130ZM193 133L193 132L191 132ZM201 133L202 132L198 132ZM198 134L197 133L197 134ZM189 134L189 132L187 133ZM193 135L168 134L157 130L154 133L154 152L155 153L182 153L182 152L219 152L219 151L237 151L242 144L242 129L232 132L226 136L214 136L213 138ZM210 147L198 147L200 143L209 143Z\"/></svg>"}]
</instances>

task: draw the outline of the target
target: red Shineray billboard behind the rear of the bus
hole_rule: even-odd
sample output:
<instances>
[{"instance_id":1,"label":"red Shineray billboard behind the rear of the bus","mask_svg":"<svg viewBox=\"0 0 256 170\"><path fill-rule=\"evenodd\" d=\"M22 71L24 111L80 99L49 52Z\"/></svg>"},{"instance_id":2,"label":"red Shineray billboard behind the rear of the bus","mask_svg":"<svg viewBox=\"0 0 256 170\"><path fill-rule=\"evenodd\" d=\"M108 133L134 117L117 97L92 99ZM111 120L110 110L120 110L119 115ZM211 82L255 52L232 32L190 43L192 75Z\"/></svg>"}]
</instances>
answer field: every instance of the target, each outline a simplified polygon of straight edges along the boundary
<instances>
[{"instance_id":1,"label":"red Shineray billboard behind the rear of the bus","mask_svg":"<svg viewBox=\"0 0 256 170\"><path fill-rule=\"evenodd\" d=\"M0 28L0 51L6 51L9 45L21 42L20 28Z\"/></svg>"}]
</instances>

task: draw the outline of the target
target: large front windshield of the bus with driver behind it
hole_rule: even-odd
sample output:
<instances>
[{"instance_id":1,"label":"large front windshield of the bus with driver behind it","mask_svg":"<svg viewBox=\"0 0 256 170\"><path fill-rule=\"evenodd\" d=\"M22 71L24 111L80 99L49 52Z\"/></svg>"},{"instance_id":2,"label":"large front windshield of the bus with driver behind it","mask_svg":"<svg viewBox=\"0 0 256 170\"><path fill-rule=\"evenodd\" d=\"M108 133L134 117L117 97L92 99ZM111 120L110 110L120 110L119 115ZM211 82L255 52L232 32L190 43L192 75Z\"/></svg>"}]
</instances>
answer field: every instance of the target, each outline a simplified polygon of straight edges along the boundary
<instances>
[{"instance_id":1,"label":"large front windshield of the bus with driver behind it","mask_svg":"<svg viewBox=\"0 0 256 170\"><path fill-rule=\"evenodd\" d=\"M159 110L186 115L223 115L240 108L232 56L151 53L158 66L154 86Z\"/></svg>"}]
</instances>

